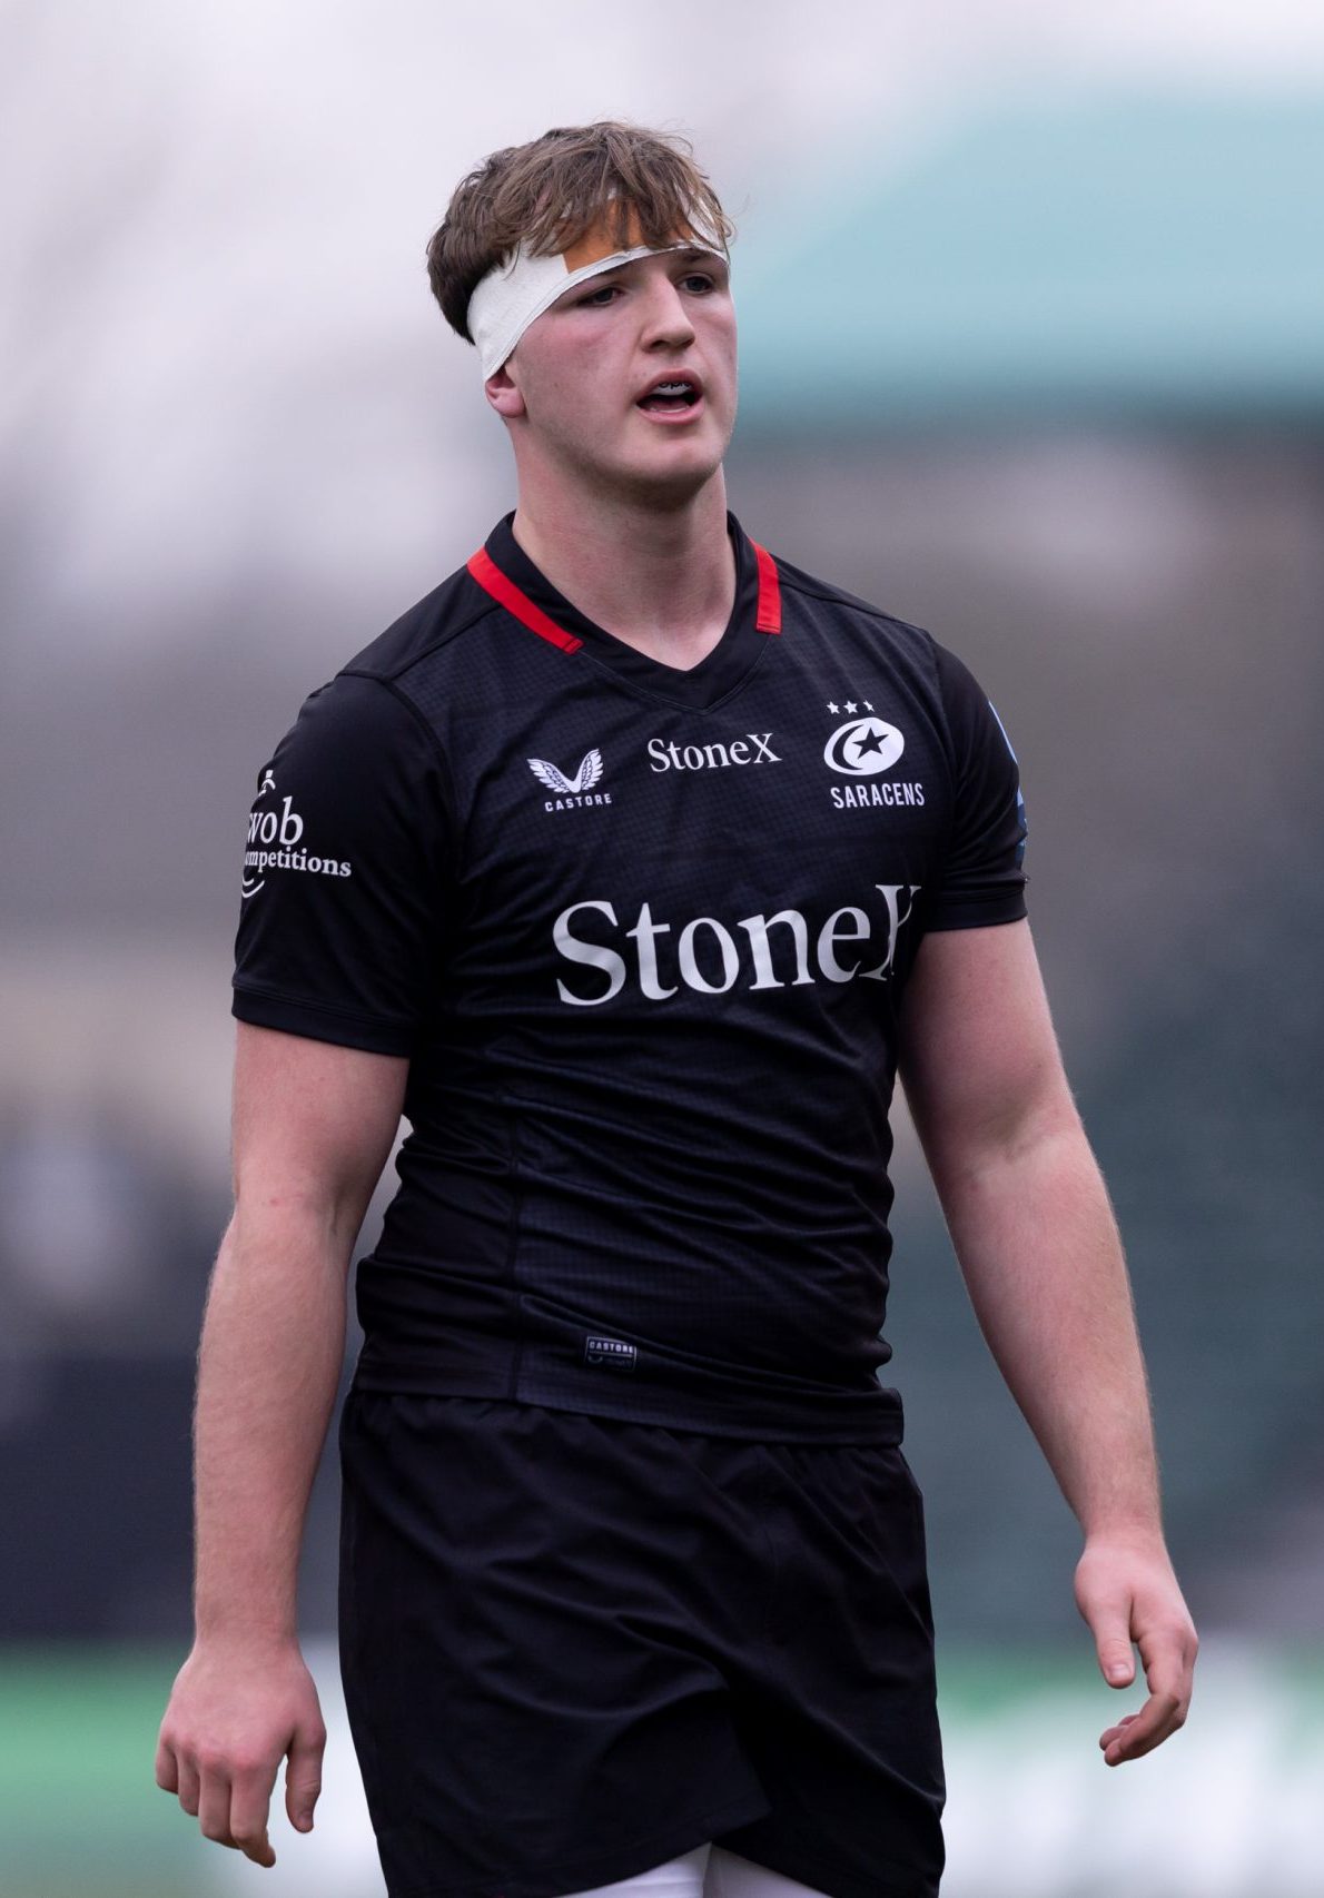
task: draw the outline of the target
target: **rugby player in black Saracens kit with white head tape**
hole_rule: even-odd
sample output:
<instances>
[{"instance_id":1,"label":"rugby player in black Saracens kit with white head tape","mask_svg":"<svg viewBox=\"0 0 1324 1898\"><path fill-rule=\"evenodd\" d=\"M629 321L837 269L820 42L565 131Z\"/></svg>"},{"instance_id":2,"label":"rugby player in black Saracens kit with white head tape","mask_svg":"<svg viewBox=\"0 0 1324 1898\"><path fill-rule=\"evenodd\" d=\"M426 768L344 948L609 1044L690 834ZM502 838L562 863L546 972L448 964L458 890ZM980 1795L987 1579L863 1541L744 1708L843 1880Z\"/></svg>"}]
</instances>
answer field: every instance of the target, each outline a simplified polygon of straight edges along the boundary
<instances>
[{"instance_id":1,"label":"rugby player in black Saracens kit with white head tape","mask_svg":"<svg viewBox=\"0 0 1324 1898\"><path fill-rule=\"evenodd\" d=\"M431 281L518 505L311 695L248 820L197 1638L157 1780L271 1864L286 1759L313 1824L296 1564L404 1114L340 1437L393 1898L937 1892L922 1498L878 1380L897 1072L1079 1518L1098 1665L1144 1663L1104 1759L1191 1693L1017 763L947 647L726 511L730 235L689 148L630 125L463 180Z\"/></svg>"}]
</instances>

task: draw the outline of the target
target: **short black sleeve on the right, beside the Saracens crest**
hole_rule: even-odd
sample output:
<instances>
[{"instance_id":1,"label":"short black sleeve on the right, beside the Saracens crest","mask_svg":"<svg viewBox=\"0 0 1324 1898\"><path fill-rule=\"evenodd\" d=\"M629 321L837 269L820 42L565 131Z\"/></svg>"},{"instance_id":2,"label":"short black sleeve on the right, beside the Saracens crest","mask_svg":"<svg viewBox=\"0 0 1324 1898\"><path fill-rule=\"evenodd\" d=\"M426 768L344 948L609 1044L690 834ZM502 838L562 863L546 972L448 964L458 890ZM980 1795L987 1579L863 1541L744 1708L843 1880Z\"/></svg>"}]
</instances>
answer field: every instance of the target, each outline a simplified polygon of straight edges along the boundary
<instances>
[{"instance_id":1,"label":"short black sleeve on the right, beside the Saracens crest","mask_svg":"<svg viewBox=\"0 0 1324 1898\"><path fill-rule=\"evenodd\" d=\"M937 647L939 687L952 740L954 812L931 930L1019 922L1024 903L1026 816L1021 771L1002 719L973 674Z\"/></svg>"}]
</instances>

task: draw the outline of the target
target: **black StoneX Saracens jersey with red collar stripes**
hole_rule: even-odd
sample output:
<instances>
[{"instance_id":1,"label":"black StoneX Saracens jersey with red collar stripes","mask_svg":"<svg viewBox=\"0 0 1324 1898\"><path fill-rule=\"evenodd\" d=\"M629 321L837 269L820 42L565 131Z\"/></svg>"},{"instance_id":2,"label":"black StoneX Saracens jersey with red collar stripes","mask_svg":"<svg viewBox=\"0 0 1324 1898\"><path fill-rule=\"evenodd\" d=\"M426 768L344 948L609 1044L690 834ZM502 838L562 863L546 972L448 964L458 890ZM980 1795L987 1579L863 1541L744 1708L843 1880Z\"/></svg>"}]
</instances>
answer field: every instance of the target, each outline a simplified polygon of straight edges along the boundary
<instances>
[{"instance_id":1,"label":"black StoneX Saracens jersey with red collar stripes","mask_svg":"<svg viewBox=\"0 0 1324 1898\"><path fill-rule=\"evenodd\" d=\"M368 1389L895 1437L897 1014L1024 915L1017 765L926 632L774 562L690 670L506 516L307 698L248 818L235 1014L408 1055Z\"/></svg>"}]
</instances>

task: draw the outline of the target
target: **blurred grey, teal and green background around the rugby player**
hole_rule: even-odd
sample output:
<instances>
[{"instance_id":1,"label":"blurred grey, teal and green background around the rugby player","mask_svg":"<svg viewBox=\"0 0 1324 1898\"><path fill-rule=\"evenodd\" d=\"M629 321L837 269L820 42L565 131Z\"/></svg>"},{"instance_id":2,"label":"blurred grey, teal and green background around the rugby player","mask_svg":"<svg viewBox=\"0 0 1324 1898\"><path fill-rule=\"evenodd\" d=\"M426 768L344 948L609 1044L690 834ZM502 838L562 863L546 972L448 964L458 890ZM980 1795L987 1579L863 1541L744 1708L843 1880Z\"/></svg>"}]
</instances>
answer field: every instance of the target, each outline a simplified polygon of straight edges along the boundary
<instances>
[{"instance_id":1,"label":"blurred grey, teal and green background around the rugby player","mask_svg":"<svg viewBox=\"0 0 1324 1898\"><path fill-rule=\"evenodd\" d=\"M956 647L1021 755L1204 1636L1186 1731L1108 1773L1140 1695L1098 1680L1076 1524L903 1135L886 1378L945 1898L1318 1898L1324 13L6 0L0 106L0 1889L258 1877L152 1784L241 826L305 693L514 501L427 294L451 186L628 116L687 133L740 228L736 512ZM264 1889L374 1898L334 1535L324 1467L326 1794Z\"/></svg>"}]
</instances>

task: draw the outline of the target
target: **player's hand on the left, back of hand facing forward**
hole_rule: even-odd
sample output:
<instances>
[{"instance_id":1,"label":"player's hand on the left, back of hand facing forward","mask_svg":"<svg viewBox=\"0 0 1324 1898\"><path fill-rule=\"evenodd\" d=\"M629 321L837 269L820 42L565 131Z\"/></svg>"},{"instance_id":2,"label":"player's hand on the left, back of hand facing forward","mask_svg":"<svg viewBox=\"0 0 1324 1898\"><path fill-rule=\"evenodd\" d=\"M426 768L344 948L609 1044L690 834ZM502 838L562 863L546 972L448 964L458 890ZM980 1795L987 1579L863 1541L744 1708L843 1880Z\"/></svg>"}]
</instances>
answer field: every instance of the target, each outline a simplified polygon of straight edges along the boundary
<instances>
[{"instance_id":1,"label":"player's hand on the left, back of hand facing forward","mask_svg":"<svg viewBox=\"0 0 1324 1898\"><path fill-rule=\"evenodd\" d=\"M267 1807L281 1759L285 1809L313 1830L326 1727L313 1676L292 1642L199 1642L175 1678L156 1750L156 1782L201 1826L256 1866L273 1866Z\"/></svg>"}]
</instances>

